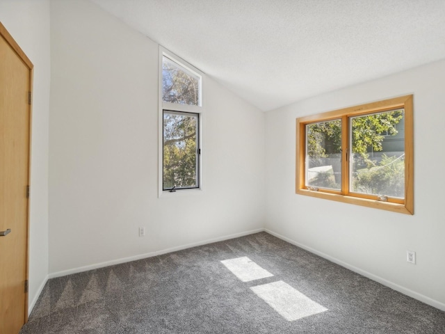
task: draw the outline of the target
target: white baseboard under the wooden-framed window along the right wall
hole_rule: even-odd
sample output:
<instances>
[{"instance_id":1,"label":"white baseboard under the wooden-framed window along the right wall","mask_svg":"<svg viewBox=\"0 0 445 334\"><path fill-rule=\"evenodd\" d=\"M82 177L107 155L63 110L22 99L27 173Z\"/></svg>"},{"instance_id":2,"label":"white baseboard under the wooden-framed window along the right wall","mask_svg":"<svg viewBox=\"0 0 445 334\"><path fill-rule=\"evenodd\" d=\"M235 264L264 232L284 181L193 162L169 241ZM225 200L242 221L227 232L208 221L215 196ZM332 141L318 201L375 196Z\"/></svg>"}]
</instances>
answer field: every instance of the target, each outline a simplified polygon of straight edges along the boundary
<instances>
[{"instance_id":1,"label":"white baseboard under the wooden-framed window along the right wall","mask_svg":"<svg viewBox=\"0 0 445 334\"><path fill-rule=\"evenodd\" d=\"M289 242L289 244L293 244L295 246L298 246L300 248L303 248L311 253L314 253L318 256L321 256L323 258L325 258L326 260L330 260L330 262L334 262L336 264L339 264L341 267L345 267L347 269L349 269L350 271L354 271L355 273L359 273L362 276L365 276L371 280L375 280L375 282L378 282L382 285L385 285L387 287L390 287L391 289L394 289L398 292L401 292L402 294L406 294L407 296L410 296L414 299L417 299L418 301L421 301L423 303L426 303L428 305L431 305L434 308L438 308L439 310L445 311L445 304L441 303L439 301L436 301L435 299L432 299L428 296L424 296L423 294L419 294L418 292L412 291L410 289L407 289L406 287L403 287L401 285L398 285L396 283L393 283L389 280L385 280L385 278L381 278L380 276L376 276L373 273L369 273L368 271L364 271L362 269L359 269L351 264L348 264L346 262L343 262L341 260L336 259L335 257L332 257L330 255L327 255L325 253L322 253L314 248L308 247L306 245L300 244L297 241L294 241L292 239L289 239L287 237L282 236L281 234L275 233L271 230L268 230L267 228L264 229L265 232L272 234L274 237L277 237L279 239L282 239L284 241Z\"/></svg>"}]
</instances>

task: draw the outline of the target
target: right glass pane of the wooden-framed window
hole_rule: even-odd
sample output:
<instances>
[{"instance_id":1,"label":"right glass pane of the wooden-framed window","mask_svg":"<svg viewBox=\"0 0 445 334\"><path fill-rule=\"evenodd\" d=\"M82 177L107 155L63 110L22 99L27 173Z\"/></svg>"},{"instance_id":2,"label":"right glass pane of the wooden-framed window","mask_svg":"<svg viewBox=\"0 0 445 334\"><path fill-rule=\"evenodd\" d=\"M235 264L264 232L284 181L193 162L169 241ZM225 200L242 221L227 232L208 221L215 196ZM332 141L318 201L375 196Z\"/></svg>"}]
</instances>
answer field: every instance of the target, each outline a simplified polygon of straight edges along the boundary
<instances>
[{"instance_id":1,"label":"right glass pane of the wooden-framed window","mask_svg":"<svg viewBox=\"0 0 445 334\"><path fill-rule=\"evenodd\" d=\"M350 118L350 191L405 197L403 109Z\"/></svg>"}]
</instances>

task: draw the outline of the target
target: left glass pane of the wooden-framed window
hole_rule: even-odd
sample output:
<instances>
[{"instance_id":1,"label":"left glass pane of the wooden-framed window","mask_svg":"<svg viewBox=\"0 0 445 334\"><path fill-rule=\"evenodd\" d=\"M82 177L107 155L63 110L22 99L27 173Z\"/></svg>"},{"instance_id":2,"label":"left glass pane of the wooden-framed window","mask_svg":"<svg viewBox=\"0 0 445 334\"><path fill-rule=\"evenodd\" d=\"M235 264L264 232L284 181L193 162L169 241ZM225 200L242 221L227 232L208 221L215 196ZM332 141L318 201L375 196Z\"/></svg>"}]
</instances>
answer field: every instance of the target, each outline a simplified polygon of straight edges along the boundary
<instances>
[{"instance_id":1,"label":"left glass pane of the wooden-framed window","mask_svg":"<svg viewBox=\"0 0 445 334\"><path fill-rule=\"evenodd\" d=\"M306 125L306 186L341 190L341 120Z\"/></svg>"}]
</instances>

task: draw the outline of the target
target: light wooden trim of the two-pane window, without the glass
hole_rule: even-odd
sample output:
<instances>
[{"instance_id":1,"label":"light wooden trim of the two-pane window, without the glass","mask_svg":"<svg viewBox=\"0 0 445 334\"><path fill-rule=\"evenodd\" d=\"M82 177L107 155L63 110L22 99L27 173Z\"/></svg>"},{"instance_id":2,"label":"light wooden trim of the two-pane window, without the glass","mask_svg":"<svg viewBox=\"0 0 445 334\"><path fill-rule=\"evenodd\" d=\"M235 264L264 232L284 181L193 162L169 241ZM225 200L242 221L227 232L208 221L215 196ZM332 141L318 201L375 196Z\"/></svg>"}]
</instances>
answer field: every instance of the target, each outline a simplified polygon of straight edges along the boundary
<instances>
[{"instance_id":1,"label":"light wooden trim of the two-pane window, without the glass","mask_svg":"<svg viewBox=\"0 0 445 334\"><path fill-rule=\"evenodd\" d=\"M313 122L321 122L326 120L334 120L341 118L342 132L341 143L343 148L348 148L348 118L351 116L360 116L369 113L378 113L383 111L391 111L394 109L405 110L405 199L392 200L391 202L383 202L375 200L375 196L367 196L363 194L349 193L348 189L348 168L349 164L346 159L348 150L342 151L341 164L341 191L329 191L323 189L321 191L312 191L305 186L305 126ZM299 195L312 196L316 198L324 198L327 200L335 200L337 202L345 202L354 205L362 205L364 207L373 207L375 209L384 209L391 212L399 212L402 214L414 214L414 120L413 120L413 95L405 95L395 97L389 100L361 104L359 106L351 106L345 109L328 111L327 113L318 113L312 116L297 118L296 120L296 193Z\"/></svg>"}]
</instances>

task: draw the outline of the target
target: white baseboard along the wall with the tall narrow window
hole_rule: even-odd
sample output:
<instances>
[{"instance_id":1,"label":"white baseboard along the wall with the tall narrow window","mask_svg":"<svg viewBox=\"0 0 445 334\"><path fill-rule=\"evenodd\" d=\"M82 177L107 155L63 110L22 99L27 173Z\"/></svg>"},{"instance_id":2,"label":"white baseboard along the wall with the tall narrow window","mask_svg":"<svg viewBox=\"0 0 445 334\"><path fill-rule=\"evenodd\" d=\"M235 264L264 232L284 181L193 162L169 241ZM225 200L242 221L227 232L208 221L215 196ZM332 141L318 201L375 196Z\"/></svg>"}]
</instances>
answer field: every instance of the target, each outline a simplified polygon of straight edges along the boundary
<instances>
[{"instance_id":1,"label":"white baseboard along the wall with the tall narrow window","mask_svg":"<svg viewBox=\"0 0 445 334\"><path fill-rule=\"evenodd\" d=\"M218 237L218 238L214 238L214 239L207 239L207 240L204 240L204 241L197 241L197 242L195 242L193 244L185 244L185 245L182 245L182 246L177 246L177 247L172 247L172 248L165 248L163 250L156 250L156 251L150 252L150 253L145 253L145 254L140 254L140 255L135 255L135 256L130 256L130 257L122 257L120 259L110 260L110 261L106 261L106 262L100 262L100 263L96 263L96 264L90 264L90 265L84 266L84 267L78 267L78 268L67 269L67 270L63 270L63 271L57 271L55 273L50 273L48 278L56 278L56 277L61 277L61 276L67 276L67 275L71 275L72 273L81 273L83 271L88 271L88 270L92 270L92 269L98 269L98 268L113 266L115 264L121 264L121 263L125 263L125 262L141 260L141 259L145 259L147 257L154 257L156 255L172 253L172 252L176 252L178 250L183 250L183 249L192 248L192 247L196 247L196 246L202 246L202 245L206 245L206 244L212 244L213 242L224 241L224 240L234 239L234 238L238 238L238 237L244 237L245 235L259 233L259 232L264 232L264 228L259 228L257 230L250 230L250 231L240 232L240 233L236 233L236 234L230 234L230 235L226 235L224 237Z\"/></svg>"}]
</instances>

